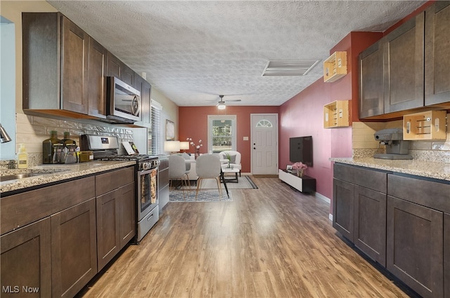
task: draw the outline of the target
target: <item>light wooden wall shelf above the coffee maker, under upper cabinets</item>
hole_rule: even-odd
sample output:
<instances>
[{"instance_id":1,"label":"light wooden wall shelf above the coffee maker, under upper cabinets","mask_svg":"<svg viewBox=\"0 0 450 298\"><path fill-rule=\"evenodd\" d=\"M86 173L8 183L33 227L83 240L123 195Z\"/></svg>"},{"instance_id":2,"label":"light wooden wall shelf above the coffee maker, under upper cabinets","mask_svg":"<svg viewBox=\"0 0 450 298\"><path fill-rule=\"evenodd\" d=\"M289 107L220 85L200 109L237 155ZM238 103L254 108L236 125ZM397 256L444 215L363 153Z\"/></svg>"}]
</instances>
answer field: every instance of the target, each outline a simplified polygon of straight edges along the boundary
<instances>
[{"instance_id":1,"label":"light wooden wall shelf above the coffee maker, under upper cabinets","mask_svg":"<svg viewBox=\"0 0 450 298\"><path fill-rule=\"evenodd\" d=\"M403 116L403 140L446 140L446 111Z\"/></svg>"}]
</instances>

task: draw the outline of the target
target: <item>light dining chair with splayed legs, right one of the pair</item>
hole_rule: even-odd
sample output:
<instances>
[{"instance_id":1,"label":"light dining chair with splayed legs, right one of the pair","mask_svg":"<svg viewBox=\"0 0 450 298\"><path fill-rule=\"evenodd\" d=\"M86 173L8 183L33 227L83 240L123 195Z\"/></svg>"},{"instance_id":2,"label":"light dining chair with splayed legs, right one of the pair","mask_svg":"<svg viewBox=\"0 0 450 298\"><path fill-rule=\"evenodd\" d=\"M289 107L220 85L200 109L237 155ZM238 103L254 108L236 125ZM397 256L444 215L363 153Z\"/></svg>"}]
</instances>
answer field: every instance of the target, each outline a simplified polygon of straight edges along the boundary
<instances>
[{"instance_id":1,"label":"light dining chair with splayed legs, right one of the pair","mask_svg":"<svg viewBox=\"0 0 450 298\"><path fill-rule=\"evenodd\" d=\"M219 189L219 198L222 197L222 187L220 185L221 178L221 163L220 157L217 154L202 154L198 156L195 161L195 172L198 175L197 191L195 191L195 200L197 200L198 190L202 185L204 179L215 179L217 182L217 189Z\"/></svg>"}]
</instances>

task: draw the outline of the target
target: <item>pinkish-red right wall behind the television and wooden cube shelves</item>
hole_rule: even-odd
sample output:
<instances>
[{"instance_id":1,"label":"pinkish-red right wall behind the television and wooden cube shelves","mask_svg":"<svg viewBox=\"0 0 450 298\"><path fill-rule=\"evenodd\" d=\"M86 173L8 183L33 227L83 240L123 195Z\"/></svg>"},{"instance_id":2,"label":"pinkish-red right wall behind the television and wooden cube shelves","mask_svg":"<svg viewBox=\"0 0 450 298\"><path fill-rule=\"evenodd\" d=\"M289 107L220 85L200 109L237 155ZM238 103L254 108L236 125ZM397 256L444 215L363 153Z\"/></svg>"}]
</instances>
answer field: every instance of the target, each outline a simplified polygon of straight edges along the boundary
<instances>
[{"instance_id":1,"label":"pinkish-red right wall behind the television and wooden cube shelves","mask_svg":"<svg viewBox=\"0 0 450 298\"><path fill-rule=\"evenodd\" d=\"M350 123L358 121L358 55L383 36L382 33L351 32L330 54L347 52L347 75L333 83L323 78L302 90L280 109L280 168L289 161L289 138L311 135L313 140L313 166L306 174L316 178L316 191L333 198L333 163L331 157L352 157L352 127L323 128L323 105L335 100L350 101ZM332 210L330 210L330 213Z\"/></svg>"}]
</instances>

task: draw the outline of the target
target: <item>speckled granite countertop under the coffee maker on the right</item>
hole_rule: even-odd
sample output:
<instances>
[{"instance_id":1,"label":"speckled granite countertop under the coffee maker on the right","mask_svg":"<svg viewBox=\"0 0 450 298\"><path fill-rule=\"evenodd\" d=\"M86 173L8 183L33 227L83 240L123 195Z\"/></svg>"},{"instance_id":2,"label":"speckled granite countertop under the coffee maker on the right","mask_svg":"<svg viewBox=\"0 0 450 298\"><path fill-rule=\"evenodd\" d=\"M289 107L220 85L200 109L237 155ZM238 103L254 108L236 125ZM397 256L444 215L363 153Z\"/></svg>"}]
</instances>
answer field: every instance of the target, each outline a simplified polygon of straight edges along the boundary
<instances>
[{"instance_id":1,"label":"speckled granite countertop under the coffee maker on the right","mask_svg":"<svg viewBox=\"0 0 450 298\"><path fill-rule=\"evenodd\" d=\"M330 161L450 181L450 163L434 163L431 161L417 160L401 161L373 157L330 158Z\"/></svg>"}]
</instances>

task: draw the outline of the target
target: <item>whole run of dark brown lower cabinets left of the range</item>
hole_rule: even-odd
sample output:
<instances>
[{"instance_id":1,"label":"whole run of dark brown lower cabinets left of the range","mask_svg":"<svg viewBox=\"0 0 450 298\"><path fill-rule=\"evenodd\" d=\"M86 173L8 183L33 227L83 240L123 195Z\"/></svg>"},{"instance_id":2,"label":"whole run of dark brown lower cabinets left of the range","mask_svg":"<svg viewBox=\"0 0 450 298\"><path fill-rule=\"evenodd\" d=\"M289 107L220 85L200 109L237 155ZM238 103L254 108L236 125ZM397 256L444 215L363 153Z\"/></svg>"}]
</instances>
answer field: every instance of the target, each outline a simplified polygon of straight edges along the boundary
<instances>
[{"instance_id":1,"label":"whole run of dark brown lower cabinets left of the range","mask_svg":"<svg viewBox=\"0 0 450 298\"><path fill-rule=\"evenodd\" d=\"M134 167L2 196L1 297L74 297L136 235L135 200Z\"/></svg>"}]
</instances>

